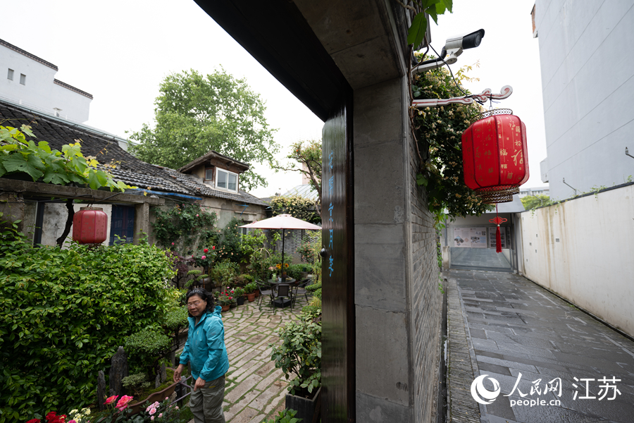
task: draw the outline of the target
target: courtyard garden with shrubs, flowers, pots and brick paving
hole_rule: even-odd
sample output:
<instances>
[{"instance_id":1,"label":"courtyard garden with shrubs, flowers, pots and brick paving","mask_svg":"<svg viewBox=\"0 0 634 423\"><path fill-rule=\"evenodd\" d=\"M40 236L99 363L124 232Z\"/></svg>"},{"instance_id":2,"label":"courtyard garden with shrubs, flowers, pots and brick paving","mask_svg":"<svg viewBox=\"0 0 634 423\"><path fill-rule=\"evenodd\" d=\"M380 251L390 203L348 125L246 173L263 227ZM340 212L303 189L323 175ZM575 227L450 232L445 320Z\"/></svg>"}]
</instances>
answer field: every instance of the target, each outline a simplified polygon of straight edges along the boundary
<instances>
[{"instance_id":1,"label":"courtyard garden with shrubs, flowers, pots and brick paving","mask_svg":"<svg viewBox=\"0 0 634 423\"><path fill-rule=\"evenodd\" d=\"M172 378L196 286L223 307L228 422L291 421L287 393L318 391L321 240L292 264L262 231L215 228L198 204L162 213L159 245L33 247L17 226L0 230L0 423L189 422L187 397L175 401L188 388ZM258 282L282 274L310 285L272 308Z\"/></svg>"}]
</instances>

